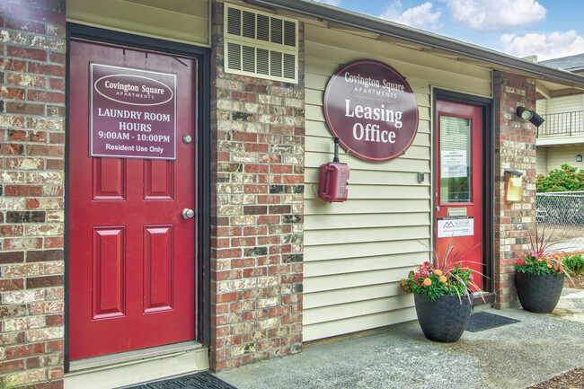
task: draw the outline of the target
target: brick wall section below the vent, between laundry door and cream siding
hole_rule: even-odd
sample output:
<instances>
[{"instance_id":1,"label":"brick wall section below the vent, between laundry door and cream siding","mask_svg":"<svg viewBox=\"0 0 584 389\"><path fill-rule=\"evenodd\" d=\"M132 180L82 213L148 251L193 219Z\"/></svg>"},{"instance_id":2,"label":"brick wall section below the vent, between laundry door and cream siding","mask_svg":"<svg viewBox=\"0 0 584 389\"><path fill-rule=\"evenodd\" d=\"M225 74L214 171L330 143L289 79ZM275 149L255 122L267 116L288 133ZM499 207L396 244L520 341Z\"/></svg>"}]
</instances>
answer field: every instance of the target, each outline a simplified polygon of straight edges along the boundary
<instances>
[{"instance_id":1,"label":"brick wall section below the vent, between laundry door and cream siding","mask_svg":"<svg viewBox=\"0 0 584 389\"><path fill-rule=\"evenodd\" d=\"M302 345L304 65L284 84L223 72L223 4L211 58L211 368Z\"/></svg>"}]
</instances>

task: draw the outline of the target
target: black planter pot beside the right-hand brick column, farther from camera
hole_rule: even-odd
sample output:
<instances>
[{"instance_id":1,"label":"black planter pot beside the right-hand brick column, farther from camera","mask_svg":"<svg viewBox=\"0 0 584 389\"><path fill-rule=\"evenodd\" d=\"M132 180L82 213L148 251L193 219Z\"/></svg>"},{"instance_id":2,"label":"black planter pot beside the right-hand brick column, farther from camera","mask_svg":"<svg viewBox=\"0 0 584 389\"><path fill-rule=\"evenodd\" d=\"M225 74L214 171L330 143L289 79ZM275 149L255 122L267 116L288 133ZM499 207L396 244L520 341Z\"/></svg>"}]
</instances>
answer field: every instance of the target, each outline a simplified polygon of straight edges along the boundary
<instances>
[{"instance_id":1,"label":"black planter pot beside the right-hand brick column, farther from camera","mask_svg":"<svg viewBox=\"0 0 584 389\"><path fill-rule=\"evenodd\" d=\"M551 314L562 295L563 274L516 273L515 286L523 309L538 314Z\"/></svg>"}]
</instances>

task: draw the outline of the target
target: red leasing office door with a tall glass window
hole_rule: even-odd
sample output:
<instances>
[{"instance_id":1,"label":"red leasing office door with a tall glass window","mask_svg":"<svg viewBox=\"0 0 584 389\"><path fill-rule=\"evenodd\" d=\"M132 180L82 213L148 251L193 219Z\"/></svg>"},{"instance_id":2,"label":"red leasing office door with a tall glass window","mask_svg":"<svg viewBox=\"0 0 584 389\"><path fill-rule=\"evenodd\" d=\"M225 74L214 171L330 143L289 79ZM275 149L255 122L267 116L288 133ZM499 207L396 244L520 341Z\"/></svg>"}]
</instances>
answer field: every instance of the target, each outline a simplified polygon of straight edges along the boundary
<instances>
[{"instance_id":1,"label":"red leasing office door with a tall glass window","mask_svg":"<svg viewBox=\"0 0 584 389\"><path fill-rule=\"evenodd\" d=\"M465 265L479 272L473 278L482 287L482 108L438 100L436 109L437 250L452 242L466 252Z\"/></svg>"}]
</instances>

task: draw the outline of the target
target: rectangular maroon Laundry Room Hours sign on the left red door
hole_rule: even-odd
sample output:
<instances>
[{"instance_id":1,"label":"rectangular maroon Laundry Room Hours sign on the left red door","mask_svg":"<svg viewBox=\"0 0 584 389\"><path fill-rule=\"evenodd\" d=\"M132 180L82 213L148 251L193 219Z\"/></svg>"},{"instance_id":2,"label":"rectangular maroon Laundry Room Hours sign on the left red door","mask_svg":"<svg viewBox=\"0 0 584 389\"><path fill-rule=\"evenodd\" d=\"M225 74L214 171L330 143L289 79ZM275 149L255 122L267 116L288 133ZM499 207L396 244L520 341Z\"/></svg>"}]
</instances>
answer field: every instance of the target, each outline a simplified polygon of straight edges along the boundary
<instances>
[{"instance_id":1,"label":"rectangular maroon Laundry Room Hours sign on the left red door","mask_svg":"<svg viewBox=\"0 0 584 389\"><path fill-rule=\"evenodd\" d=\"M176 159L176 75L91 64L89 155Z\"/></svg>"}]
</instances>

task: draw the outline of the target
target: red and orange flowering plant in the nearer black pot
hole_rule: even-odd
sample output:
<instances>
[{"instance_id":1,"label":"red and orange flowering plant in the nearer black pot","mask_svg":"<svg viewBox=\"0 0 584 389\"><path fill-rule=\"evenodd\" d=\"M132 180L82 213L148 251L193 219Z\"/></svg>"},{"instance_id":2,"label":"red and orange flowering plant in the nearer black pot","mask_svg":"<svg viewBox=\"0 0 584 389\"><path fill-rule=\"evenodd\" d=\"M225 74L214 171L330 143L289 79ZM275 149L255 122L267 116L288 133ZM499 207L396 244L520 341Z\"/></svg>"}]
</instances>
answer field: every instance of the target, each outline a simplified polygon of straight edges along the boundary
<instances>
[{"instance_id":1,"label":"red and orange flowering plant in the nearer black pot","mask_svg":"<svg viewBox=\"0 0 584 389\"><path fill-rule=\"evenodd\" d=\"M439 296L467 296L470 300L472 290L480 290L480 287L474 283L473 270L463 264L467 252L456 250L451 239L444 255L432 251L430 261L411 270L408 278L400 282L400 288L406 293L423 293L429 301L436 301Z\"/></svg>"}]
</instances>

